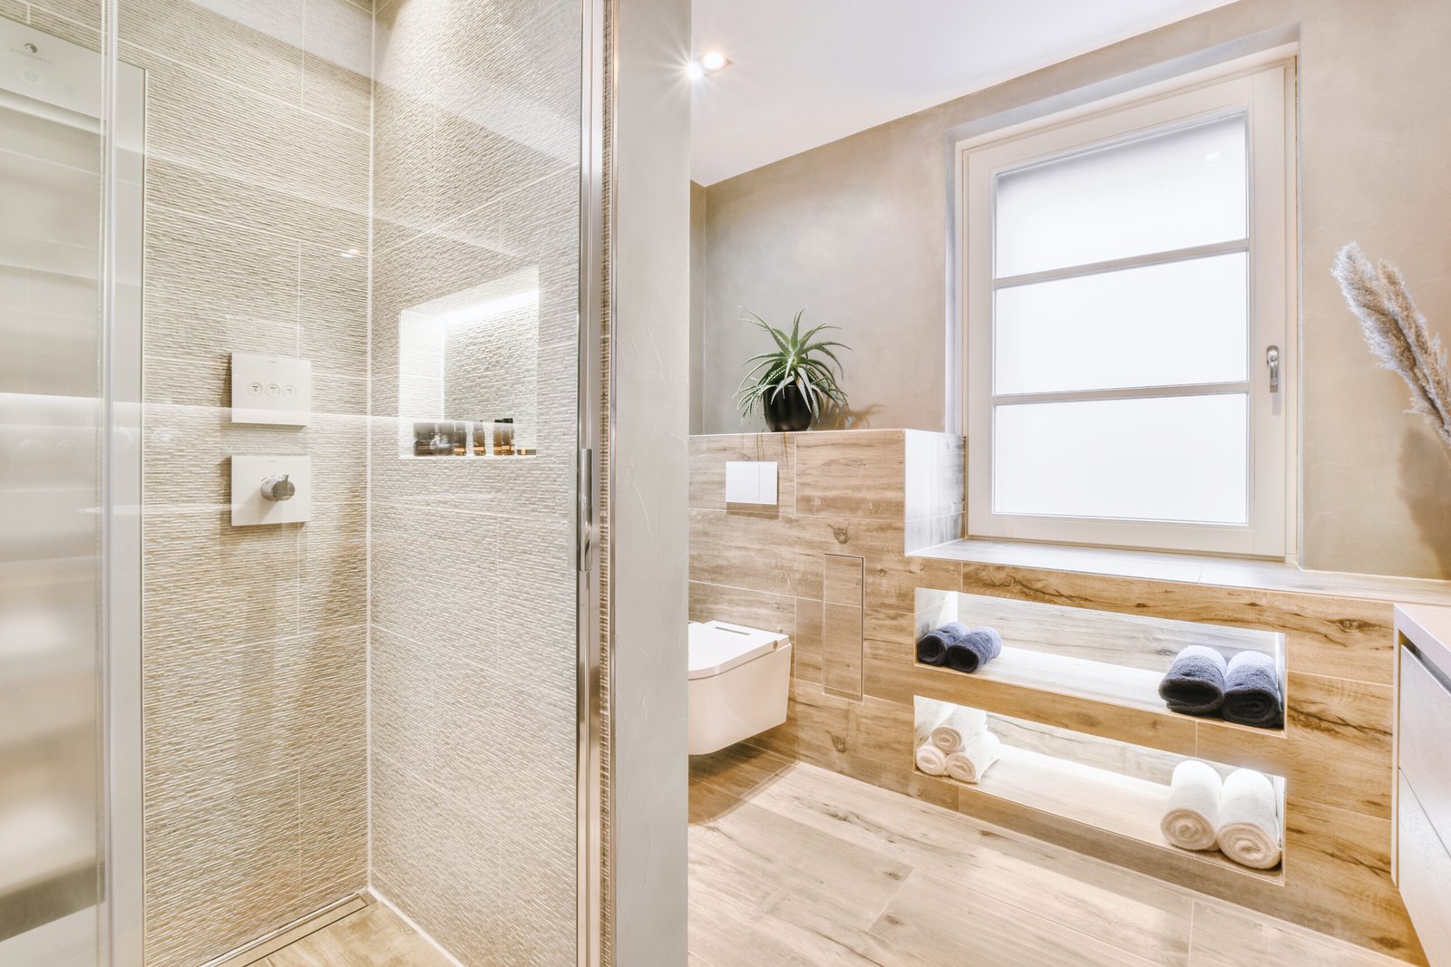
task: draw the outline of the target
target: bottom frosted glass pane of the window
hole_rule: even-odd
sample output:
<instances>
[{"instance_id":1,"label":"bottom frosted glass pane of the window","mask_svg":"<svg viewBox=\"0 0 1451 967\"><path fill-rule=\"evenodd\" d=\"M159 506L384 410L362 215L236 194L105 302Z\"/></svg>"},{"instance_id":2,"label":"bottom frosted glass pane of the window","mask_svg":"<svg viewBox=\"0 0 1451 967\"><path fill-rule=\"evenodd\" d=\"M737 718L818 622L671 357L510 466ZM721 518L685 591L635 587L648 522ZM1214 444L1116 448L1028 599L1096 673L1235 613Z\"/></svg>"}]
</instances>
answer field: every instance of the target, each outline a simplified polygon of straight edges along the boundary
<instances>
[{"instance_id":1,"label":"bottom frosted glass pane of the window","mask_svg":"<svg viewBox=\"0 0 1451 967\"><path fill-rule=\"evenodd\" d=\"M992 509L1246 523L1242 393L997 406Z\"/></svg>"}]
</instances>

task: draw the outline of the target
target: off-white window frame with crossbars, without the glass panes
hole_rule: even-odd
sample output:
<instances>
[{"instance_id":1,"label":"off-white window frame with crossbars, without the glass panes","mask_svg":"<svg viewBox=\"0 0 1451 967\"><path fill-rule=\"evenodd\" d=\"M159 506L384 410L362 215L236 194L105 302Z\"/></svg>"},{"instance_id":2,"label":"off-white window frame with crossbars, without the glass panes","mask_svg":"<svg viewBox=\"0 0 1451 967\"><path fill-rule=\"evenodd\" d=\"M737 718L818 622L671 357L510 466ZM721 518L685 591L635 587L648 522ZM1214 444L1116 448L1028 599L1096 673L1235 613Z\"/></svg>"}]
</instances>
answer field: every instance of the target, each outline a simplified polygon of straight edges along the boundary
<instances>
[{"instance_id":1,"label":"off-white window frame with crossbars, without the glass panes","mask_svg":"<svg viewBox=\"0 0 1451 967\"><path fill-rule=\"evenodd\" d=\"M1111 107L1090 106L1071 117L1055 116L1011 132L958 144L961 204L958 207L959 278L965 280L961 333L965 352L963 426L968 431L968 534L991 539L1026 539L1100 547L1287 558L1296 552L1296 451L1299 326L1296 325L1296 219L1293 65L1257 67L1249 72L1180 87ZM1077 154L1085 146L1130 139L1244 112L1248 119L1248 239L1104 262L1062 274L1090 274L1142 264L1175 261L1210 251L1246 251L1249 258L1249 507L1245 525L1209 525L1133 519L1065 518L997 513L992 509L992 312L994 183L997 174L1024 164ZM1017 281L1023 281L1022 278ZM1268 346L1278 346L1278 391L1270 391ZM1185 387L1123 390L1120 396L1183 394ZM1111 393L1064 393L1062 399L1103 399ZM1043 399L1040 394L1033 399Z\"/></svg>"}]
</instances>

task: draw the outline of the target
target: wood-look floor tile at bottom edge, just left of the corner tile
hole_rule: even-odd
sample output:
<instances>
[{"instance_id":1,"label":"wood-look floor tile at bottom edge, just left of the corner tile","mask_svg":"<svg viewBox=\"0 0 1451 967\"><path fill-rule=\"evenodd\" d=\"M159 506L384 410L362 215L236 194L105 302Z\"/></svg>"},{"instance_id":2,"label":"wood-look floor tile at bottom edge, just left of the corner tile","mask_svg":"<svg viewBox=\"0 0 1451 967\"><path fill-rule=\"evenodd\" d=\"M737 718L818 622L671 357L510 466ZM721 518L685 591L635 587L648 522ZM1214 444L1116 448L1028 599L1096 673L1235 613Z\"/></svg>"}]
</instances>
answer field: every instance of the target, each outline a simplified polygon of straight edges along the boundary
<instances>
[{"instance_id":1,"label":"wood-look floor tile at bottom edge, just left of the corner tile","mask_svg":"<svg viewBox=\"0 0 1451 967\"><path fill-rule=\"evenodd\" d=\"M1051 906L1046 897L1045 906ZM907 877L871 932L942 967L1148 967L1155 963L1107 939L1003 903L992 893L968 893L961 884L924 870ZM1110 938L1114 925L1103 924L1100 932ZM1178 961L1185 963L1187 958Z\"/></svg>"}]
</instances>

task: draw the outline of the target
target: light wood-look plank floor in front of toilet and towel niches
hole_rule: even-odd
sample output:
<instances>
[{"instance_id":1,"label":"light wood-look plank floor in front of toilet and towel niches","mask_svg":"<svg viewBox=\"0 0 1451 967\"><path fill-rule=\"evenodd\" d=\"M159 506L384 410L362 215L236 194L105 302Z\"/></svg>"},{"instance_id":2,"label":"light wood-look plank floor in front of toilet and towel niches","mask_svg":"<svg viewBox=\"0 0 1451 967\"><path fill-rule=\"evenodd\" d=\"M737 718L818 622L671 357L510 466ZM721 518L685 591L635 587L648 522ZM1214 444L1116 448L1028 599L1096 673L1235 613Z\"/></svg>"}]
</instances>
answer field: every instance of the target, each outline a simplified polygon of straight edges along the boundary
<instances>
[{"instance_id":1,"label":"light wood-look plank floor in front of toilet and towel niches","mask_svg":"<svg viewBox=\"0 0 1451 967\"><path fill-rule=\"evenodd\" d=\"M837 773L692 760L691 967L1400 961Z\"/></svg>"}]
</instances>

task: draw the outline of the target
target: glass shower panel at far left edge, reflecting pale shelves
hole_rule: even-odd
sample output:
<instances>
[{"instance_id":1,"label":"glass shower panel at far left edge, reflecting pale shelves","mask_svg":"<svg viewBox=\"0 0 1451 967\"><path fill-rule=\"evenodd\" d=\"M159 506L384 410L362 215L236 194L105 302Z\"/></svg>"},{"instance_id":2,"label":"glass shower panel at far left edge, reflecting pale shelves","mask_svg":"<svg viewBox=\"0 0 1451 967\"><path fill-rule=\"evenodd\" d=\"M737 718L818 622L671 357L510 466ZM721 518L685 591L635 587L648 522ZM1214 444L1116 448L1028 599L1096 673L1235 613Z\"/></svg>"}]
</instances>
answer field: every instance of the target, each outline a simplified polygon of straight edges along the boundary
<instances>
[{"instance_id":1,"label":"glass shower panel at far left edge, reflecting pale shelves","mask_svg":"<svg viewBox=\"0 0 1451 967\"><path fill-rule=\"evenodd\" d=\"M99 950L102 61L0 17L0 963Z\"/></svg>"}]
</instances>

